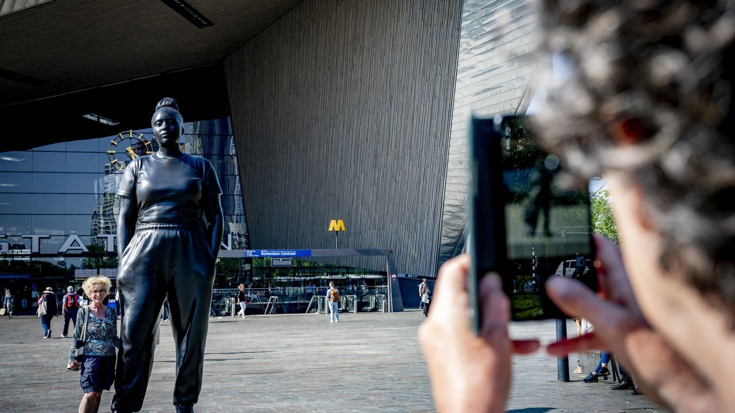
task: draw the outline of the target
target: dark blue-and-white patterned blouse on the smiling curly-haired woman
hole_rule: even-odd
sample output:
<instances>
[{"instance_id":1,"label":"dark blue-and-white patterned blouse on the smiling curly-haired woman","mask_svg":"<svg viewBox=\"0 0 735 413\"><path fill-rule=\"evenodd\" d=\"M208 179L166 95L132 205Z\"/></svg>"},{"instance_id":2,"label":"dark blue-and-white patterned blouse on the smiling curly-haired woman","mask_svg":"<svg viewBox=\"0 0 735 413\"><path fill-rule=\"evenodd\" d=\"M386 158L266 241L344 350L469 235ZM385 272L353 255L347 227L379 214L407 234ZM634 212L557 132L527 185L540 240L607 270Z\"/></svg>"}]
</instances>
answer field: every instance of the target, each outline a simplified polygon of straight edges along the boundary
<instances>
[{"instance_id":1,"label":"dark blue-and-white patterned blouse on the smiling curly-haired woman","mask_svg":"<svg viewBox=\"0 0 735 413\"><path fill-rule=\"evenodd\" d=\"M115 347L120 347L118 337L118 316L115 310L107 307L104 320L99 320L90 312L89 306L79 309L79 317L74 324L74 341L69 351L69 362L73 362L76 353L76 340L82 340L82 329L87 318L87 334L85 334L85 355L87 356L115 356Z\"/></svg>"}]
</instances>

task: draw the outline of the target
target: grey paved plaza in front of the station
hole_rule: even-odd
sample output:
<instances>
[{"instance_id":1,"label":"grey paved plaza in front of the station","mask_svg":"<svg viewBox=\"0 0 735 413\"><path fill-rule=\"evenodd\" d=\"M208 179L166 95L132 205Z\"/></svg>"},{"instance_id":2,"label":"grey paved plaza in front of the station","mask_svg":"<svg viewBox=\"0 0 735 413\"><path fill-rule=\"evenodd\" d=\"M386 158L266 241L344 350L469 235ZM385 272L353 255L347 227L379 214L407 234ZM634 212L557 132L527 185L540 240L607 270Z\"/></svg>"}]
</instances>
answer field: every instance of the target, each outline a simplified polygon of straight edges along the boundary
<instances>
[{"instance_id":1,"label":"grey paved plaza in front of the station","mask_svg":"<svg viewBox=\"0 0 735 413\"><path fill-rule=\"evenodd\" d=\"M345 314L340 323L326 315L212 318L195 410L433 412L417 342L422 320L416 310ZM59 338L62 326L54 318L54 338L46 340L37 317L0 318L0 412L76 412L82 390L79 373L65 368L71 339ZM515 323L511 334L551 342L554 323ZM173 412L174 360L171 328L162 323L143 412ZM556 359L542 351L513 364L512 413L663 412L610 382L557 382ZM100 412L109 412L111 398L104 392Z\"/></svg>"}]
</instances>

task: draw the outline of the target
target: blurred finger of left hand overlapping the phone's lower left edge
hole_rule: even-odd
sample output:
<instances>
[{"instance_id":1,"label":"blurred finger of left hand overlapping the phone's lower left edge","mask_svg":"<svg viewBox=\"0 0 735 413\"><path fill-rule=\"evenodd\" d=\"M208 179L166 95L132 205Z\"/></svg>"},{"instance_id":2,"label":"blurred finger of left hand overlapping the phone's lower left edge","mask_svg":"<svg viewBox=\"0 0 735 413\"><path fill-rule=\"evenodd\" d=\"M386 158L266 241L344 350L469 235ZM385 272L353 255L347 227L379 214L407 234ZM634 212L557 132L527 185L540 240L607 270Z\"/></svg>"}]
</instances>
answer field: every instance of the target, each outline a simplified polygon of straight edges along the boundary
<instances>
[{"instance_id":1,"label":"blurred finger of left hand overlapping the phone's lower left edge","mask_svg":"<svg viewBox=\"0 0 735 413\"><path fill-rule=\"evenodd\" d=\"M510 300L503 292L503 282L496 273L489 273L480 281L482 326L480 335L490 342L508 340Z\"/></svg>"}]
</instances>

